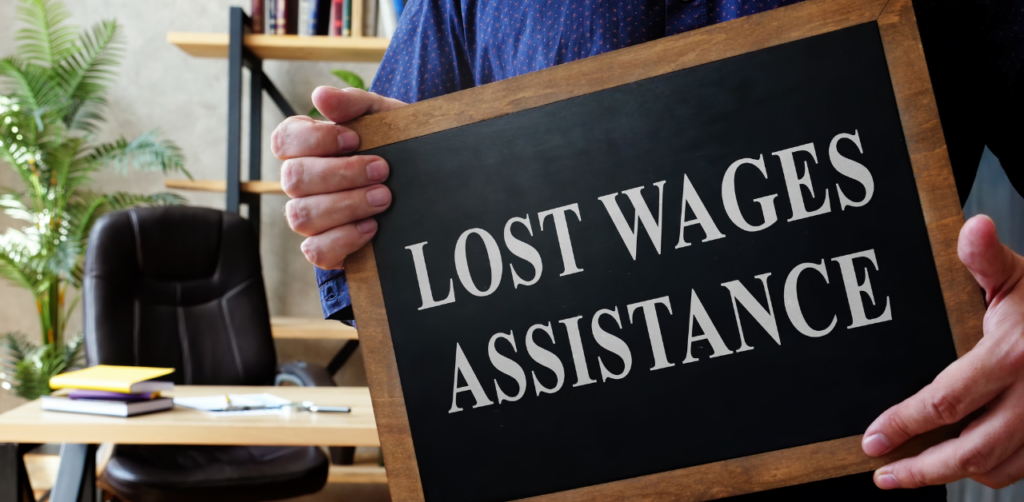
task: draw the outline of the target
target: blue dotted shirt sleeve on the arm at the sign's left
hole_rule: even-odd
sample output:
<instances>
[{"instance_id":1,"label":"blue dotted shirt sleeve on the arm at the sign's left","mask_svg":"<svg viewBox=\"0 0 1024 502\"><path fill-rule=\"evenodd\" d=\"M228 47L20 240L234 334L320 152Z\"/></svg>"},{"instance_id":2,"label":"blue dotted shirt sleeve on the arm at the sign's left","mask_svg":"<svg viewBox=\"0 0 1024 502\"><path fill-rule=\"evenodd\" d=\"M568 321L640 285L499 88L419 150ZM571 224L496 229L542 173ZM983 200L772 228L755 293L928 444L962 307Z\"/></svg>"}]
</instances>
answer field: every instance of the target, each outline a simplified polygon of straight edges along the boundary
<instances>
[{"instance_id":1,"label":"blue dotted shirt sleeve on the arm at the sign's left","mask_svg":"<svg viewBox=\"0 0 1024 502\"><path fill-rule=\"evenodd\" d=\"M454 0L412 0L377 70L371 91L404 102L473 86L465 30ZM344 270L316 268L324 319L353 323Z\"/></svg>"}]
</instances>

